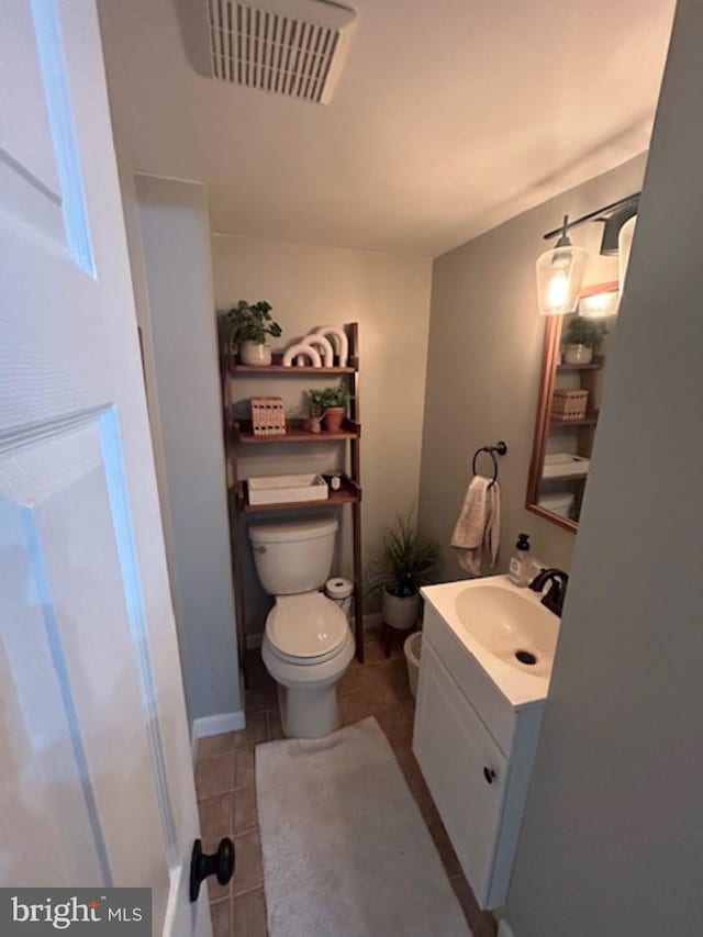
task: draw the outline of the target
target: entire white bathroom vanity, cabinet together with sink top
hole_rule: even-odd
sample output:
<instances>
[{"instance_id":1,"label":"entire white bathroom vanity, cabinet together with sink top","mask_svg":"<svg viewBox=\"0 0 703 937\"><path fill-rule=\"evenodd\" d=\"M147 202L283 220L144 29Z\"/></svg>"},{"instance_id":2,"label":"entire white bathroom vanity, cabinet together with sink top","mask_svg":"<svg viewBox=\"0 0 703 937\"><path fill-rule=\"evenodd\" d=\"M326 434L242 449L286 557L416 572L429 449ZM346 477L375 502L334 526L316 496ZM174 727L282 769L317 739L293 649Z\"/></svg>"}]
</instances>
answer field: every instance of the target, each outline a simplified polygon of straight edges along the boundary
<instances>
[{"instance_id":1,"label":"entire white bathroom vanity, cabinet together with sink top","mask_svg":"<svg viewBox=\"0 0 703 937\"><path fill-rule=\"evenodd\" d=\"M559 618L507 577L431 585L413 750L481 907L510 881Z\"/></svg>"}]
</instances>

